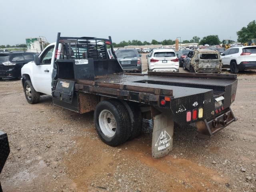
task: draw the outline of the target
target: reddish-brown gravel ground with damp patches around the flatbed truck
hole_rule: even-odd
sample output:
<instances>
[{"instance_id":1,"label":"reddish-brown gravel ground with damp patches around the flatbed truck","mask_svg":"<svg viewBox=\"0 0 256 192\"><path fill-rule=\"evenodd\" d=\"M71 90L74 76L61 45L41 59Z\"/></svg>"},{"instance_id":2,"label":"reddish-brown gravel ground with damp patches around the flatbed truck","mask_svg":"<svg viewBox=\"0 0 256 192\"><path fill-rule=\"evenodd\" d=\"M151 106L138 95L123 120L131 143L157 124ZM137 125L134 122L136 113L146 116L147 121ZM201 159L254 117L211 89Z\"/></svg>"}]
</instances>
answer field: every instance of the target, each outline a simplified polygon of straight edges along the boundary
<instances>
[{"instance_id":1,"label":"reddish-brown gravel ground with damp patches around the flatbed truck","mask_svg":"<svg viewBox=\"0 0 256 192\"><path fill-rule=\"evenodd\" d=\"M145 69L145 54L142 56ZM145 72L145 70L144 70ZM180 72L182 69L180 68ZM228 72L224 72L228 73ZM256 72L238 74L232 110L238 120L210 140L196 128L174 129L174 148L151 157L152 123L139 138L110 147L98 138L93 113L28 104L18 80L0 81L0 129L10 156L0 175L4 192L256 191Z\"/></svg>"}]
</instances>

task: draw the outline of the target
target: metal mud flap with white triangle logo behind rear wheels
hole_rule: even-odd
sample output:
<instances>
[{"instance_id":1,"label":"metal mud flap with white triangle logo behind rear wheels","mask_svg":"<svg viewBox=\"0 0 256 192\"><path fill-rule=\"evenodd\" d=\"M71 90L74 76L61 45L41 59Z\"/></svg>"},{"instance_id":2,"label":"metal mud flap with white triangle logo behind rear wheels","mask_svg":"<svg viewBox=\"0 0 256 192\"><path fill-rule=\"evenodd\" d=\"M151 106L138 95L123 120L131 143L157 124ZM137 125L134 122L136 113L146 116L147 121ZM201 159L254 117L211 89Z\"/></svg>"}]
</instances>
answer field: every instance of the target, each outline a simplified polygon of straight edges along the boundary
<instances>
[{"instance_id":1,"label":"metal mud flap with white triangle logo behind rear wheels","mask_svg":"<svg viewBox=\"0 0 256 192\"><path fill-rule=\"evenodd\" d=\"M171 115L151 107L153 122L152 157L166 156L172 150L174 122Z\"/></svg>"}]
</instances>

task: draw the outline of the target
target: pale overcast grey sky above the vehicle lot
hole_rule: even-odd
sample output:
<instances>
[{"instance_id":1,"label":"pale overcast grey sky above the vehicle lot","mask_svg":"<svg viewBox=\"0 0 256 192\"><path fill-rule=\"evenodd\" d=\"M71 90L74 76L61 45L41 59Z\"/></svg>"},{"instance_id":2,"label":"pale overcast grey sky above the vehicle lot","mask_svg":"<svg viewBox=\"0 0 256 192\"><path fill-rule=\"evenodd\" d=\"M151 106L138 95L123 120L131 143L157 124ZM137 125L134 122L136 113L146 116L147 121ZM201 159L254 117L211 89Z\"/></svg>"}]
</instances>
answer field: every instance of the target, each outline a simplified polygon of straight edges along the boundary
<instances>
[{"instance_id":1,"label":"pale overcast grey sky above the vehicle lot","mask_svg":"<svg viewBox=\"0 0 256 192\"><path fill-rule=\"evenodd\" d=\"M256 20L256 0L0 0L0 45L25 38L94 36L119 43L201 39L237 40L236 31Z\"/></svg>"}]
</instances>

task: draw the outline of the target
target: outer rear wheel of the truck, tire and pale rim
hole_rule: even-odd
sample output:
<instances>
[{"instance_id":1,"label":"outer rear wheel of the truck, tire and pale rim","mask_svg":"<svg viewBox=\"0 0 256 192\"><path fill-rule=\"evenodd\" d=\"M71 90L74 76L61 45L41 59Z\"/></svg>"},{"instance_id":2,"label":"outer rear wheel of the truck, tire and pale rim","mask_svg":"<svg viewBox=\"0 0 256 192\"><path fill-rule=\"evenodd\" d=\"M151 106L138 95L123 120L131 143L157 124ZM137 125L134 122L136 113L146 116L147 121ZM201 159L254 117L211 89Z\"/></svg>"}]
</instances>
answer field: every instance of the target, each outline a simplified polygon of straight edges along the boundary
<instances>
[{"instance_id":1,"label":"outer rear wheel of the truck, tire and pale rim","mask_svg":"<svg viewBox=\"0 0 256 192\"><path fill-rule=\"evenodd\" d=\"M131 136L130 116L118 100L99 102L94 111L94 124L100 139L110 146L123 144Z\"/></svg>"}]
</instances>

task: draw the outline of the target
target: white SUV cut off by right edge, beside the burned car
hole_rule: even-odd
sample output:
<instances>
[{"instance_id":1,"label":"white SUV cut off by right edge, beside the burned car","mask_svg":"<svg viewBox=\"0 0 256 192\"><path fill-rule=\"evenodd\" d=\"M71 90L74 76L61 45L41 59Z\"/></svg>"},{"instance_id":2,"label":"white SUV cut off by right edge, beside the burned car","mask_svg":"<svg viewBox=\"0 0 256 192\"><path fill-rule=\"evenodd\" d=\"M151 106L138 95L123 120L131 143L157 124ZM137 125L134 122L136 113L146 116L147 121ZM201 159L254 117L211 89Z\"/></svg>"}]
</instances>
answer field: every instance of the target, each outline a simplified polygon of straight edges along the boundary
<instances>
[{"instance_id":1,"label":"white SUV cut off by right edge, beside the burned car","mask_svg":"<svg viewBox=\"0 0 256 192\"><path fill-rule=\"evenodd\" d=\"M220 54L223 66L230 68L230 72L256 69L256 46L232 47Z\"/></svg>"}]
</instances>

